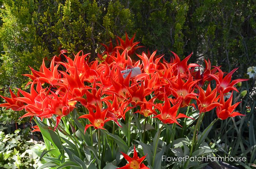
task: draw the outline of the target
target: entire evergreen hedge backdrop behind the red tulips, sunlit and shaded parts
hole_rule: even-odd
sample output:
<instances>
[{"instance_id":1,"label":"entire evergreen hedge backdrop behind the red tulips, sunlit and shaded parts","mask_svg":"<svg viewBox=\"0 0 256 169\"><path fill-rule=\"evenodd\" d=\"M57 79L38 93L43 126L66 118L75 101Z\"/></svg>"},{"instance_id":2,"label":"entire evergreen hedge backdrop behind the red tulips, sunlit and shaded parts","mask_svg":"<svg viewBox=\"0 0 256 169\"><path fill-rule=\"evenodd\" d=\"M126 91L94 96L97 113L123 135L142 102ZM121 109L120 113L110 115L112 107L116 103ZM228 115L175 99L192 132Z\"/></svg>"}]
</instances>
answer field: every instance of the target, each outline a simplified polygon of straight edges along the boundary
<instances>
[{"instance_id":1,"label":"entire evergreen hedge backdrop behind the red tulips, sunlit and shaded parts","mask_svg":"<svg viewBox=\"0 0 256 169\"><path fill-rule=\"evenodd\" d=\"M43 58L84 50L96 56L102 46L125 31L149 50L170 58L170 51L192 61L209 58L240 67L244 76L255 66L254 1L166 0L4 0L0 38L0 86L20 87L28 65L39 68ZM5 90L4 90L5 91Z\"/></svg>"}]
</instances>

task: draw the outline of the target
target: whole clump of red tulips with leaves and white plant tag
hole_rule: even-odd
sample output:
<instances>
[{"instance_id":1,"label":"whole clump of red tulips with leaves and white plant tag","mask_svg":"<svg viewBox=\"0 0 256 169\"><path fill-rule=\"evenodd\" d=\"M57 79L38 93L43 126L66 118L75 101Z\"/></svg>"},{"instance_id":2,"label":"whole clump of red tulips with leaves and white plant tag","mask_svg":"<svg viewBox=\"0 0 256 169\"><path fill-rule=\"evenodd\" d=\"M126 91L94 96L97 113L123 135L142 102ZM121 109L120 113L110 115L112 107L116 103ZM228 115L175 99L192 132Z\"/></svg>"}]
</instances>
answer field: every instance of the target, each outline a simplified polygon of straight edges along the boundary
<instances>
[{"instance_id":1,"label":"whole clump of red tulips with leaves and white plant tag","mask_svg":"<svg viewBox=\"0 0 256 169\"><path fill-rule=\"evenodd\" d=\"M41 130L48 150L43 155L58 159L57 168L174 167L175 162L161 159L163 154L177 155L172 151L177 148L177 130L184 139L185 133L191 137L180 140L184 155L187 148L190 156L198 155L194 152L206 138L197 138L205 113L216 108L222 120L243 115L235 111L240 102L232 103L233 92L238 92L235 85L247 80L231 80L237 68L225 73L204 60L200 70L198 64L188 64L192 54L181 60L174 52L170 62L157 51L136 54L135 61L130 56L141 46L133 39L126 35L125 41L118 38L116 47L103 44L105 51L93 61L82 51L74 58L54 56L49 67L43 61L39 71L31 68L32 74L25 74L31 79L30 91L10 90L11 98L1 96L6 103L0 107L25 110L20 118L37 122L36 131ZM189 161L182 165L194 166Z\"/></svg>"}]
</instances>

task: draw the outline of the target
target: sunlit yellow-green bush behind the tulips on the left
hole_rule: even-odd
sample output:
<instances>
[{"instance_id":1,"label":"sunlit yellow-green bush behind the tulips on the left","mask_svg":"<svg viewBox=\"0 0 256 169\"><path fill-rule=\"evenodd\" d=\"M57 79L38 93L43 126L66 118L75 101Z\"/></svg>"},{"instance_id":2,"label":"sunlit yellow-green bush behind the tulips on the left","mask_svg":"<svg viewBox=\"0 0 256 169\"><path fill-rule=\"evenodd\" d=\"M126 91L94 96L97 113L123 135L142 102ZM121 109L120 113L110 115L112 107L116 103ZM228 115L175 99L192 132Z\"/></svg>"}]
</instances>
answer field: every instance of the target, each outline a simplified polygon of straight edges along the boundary
<instances>
[{"instance_id":1,"label":"sunlit yellow-green bush behind the tulips on the left","mask_svg":"<svg viewBox=\"0 0 256 169\"><path fill-rule=\"evenodd\" d=\"M133 15L119 1L4 0L0 38L4 46L0 86L25 86L22 74L43 58L84 50L97 56L99 42L132 30ZM128 32L129 33L129 32ZM5 91L5 90L4 90Z\"/></svg>"}]
</instances>

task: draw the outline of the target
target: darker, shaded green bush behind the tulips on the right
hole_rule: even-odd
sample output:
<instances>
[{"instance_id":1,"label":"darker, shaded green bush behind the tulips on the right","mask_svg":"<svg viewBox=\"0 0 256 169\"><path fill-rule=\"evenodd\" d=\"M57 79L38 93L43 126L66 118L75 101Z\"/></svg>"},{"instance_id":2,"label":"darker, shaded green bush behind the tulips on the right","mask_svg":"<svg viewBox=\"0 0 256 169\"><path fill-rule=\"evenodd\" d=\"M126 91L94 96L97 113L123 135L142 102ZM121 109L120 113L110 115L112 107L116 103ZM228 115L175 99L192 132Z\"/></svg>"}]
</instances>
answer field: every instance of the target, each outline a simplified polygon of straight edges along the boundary
<instances>
[{"instance_id":1,"label":"darker, shaded green bush behind the tulips on the right","mask_svg":"<svg viewBox=\"0 0 256 169\"><path fill-rule=\"evenodd\" d=\"M170 57L193 52L192 61L209 58L225 71L256 65L256 21L253 1L126 1L136 16L135 30L144 46Z\"/></svg>"}]
</instances>

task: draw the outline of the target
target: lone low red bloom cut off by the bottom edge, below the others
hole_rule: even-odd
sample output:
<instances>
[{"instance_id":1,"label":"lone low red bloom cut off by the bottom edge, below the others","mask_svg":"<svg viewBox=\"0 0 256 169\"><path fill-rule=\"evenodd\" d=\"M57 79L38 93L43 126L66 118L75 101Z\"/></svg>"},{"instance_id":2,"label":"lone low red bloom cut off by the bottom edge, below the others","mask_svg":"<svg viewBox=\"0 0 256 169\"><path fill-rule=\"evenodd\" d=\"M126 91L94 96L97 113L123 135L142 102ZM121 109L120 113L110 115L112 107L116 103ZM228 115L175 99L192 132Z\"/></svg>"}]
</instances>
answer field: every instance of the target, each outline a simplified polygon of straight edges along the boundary
<instances>
[{"instance_id":1,"label":"lone low red bloom cut off by the bottom edge, below the others","mask_svg":"<svg viewBox=\"0 0 256 169\"><path fill-rule=\"evenodd\" d=\"M129 157L127 154L121 152L125 158L125 160L127 160L129 163L126 164L125 166L121 167L121 168L117 168L117 169L149 169L146 165L144 165L142 163L142 161L146 158L146 156L143 156L142 158L138 157L138 153L136 152L135 149L135 145L133 148L134 152L133 152L133 157Z\"/></svg>"}]
</instances>

